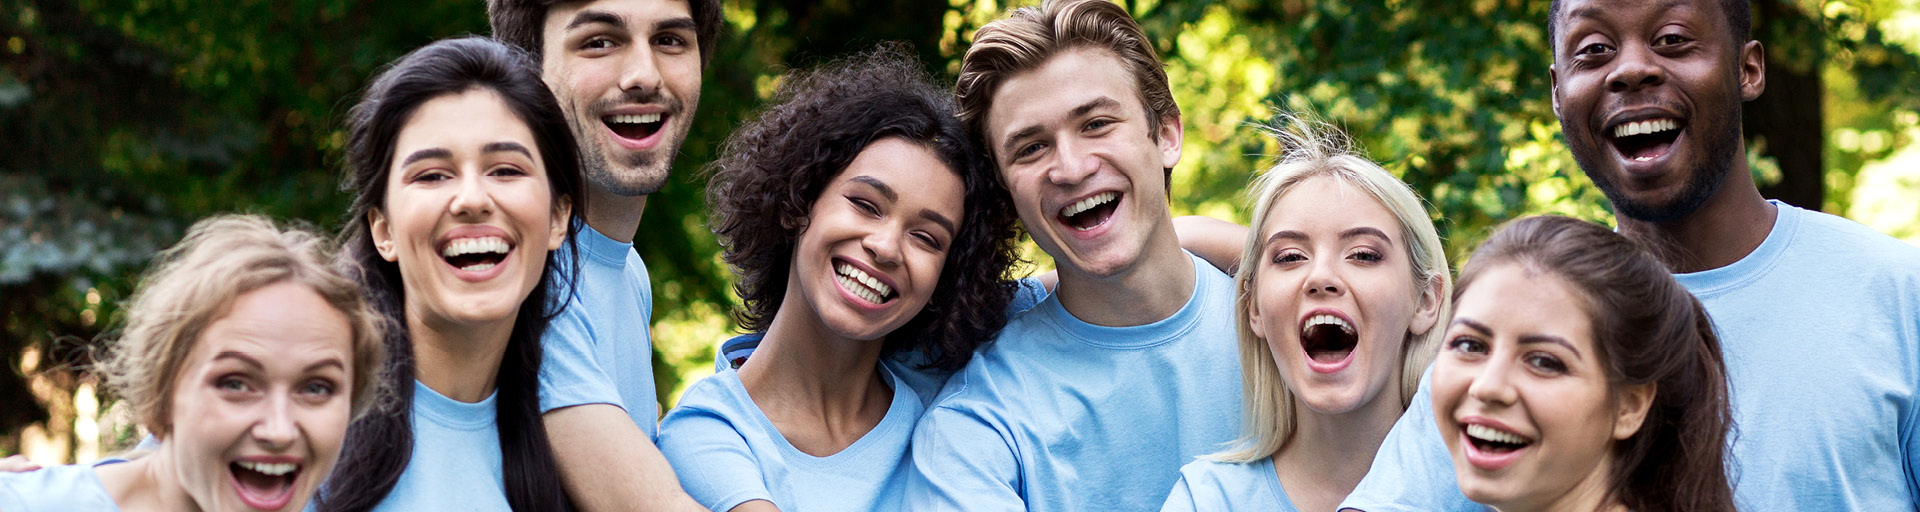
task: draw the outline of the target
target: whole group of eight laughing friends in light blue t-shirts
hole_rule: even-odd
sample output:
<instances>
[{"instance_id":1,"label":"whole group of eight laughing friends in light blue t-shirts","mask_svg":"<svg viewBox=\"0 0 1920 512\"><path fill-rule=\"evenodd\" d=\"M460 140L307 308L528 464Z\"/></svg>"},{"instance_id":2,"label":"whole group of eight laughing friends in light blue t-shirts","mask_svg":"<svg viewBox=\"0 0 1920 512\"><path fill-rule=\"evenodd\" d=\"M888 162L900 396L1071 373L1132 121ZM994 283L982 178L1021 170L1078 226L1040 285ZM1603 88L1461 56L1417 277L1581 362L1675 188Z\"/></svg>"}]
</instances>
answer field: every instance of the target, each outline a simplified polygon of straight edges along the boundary
<instances>
[{"instance_id":1,"label":"whole group of eight laughing friends in light blue t-shirts","mask_svg":"<svg viewBox=\"0 0 1920 512\"><path fill-rule=\"evenodd\" d=\"M632 232L718 6L493 0L349 111L338 247L221 215L159 255L102 368L152 441L0 510L1916 510L1920 249L1759 196L1745 2L1551 12L1620 226L1519 219L1457 280L1311 115L1250 226L1173 219L1181 113L1106 0L1012 10L952 86L789 73L708 169L749 334L662 418Z\"/></svg>"}]
</instances>

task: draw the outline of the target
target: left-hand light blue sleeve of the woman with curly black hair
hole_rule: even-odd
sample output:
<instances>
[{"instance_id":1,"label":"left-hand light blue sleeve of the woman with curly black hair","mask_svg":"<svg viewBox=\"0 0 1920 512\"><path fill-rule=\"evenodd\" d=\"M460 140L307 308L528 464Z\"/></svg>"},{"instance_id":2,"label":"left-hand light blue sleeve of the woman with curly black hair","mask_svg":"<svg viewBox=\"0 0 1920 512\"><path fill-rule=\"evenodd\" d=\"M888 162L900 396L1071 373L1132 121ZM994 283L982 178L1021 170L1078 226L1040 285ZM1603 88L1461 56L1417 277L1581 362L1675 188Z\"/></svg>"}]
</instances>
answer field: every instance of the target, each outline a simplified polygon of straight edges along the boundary
<instances>
[{"instance_id":1,"label":"left-hand light blue sleeve of the woman with curly black hair","mask_svg":"<svg viewBox=\"0 0 1920 512\"><path fill-rule=\"evenodd\" d=\"M660 454L701 506L732 510L749 500L774 502L747 437L710 410L680 407L668 412L660 420Z\"/></svg>"}]
</instances>

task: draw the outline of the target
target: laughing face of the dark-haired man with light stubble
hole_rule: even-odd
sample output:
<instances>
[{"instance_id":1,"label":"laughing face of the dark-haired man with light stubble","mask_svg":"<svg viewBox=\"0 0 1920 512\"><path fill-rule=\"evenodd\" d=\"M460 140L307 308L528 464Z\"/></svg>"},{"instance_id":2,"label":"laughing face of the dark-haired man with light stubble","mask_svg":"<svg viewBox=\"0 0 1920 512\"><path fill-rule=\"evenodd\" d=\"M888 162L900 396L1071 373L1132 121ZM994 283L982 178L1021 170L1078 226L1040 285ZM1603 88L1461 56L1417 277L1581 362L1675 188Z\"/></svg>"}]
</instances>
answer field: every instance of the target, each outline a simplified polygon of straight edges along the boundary
<instances>
[{"instance_id":1,"label":"laughing face of the dark-haired man with light stubble","mask_svg":"<svg viewBox=\"0 0 1920 512\"><path fill-rule=\"evenodd\" d=\"M701 52L687 2L555 4L541 40L541 77L580 140L593 188L659 192L701 102Z\"/></svg>"}]
</instances>

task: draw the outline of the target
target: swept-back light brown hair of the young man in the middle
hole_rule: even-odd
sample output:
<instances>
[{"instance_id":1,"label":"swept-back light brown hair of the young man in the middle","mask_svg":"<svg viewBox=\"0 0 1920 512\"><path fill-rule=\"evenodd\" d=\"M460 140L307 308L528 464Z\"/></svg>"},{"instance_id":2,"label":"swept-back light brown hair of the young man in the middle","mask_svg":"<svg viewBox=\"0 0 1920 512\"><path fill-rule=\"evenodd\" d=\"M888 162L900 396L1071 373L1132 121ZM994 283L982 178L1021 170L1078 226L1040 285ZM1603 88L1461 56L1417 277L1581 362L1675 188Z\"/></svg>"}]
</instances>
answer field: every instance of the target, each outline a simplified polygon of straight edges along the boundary
<instances>
[{"instance_id":1,"label":"swept-back light brown hair of the young man in the middle","mask_svg":"<svg viewBox=\"0 0 1920 512\"><path fill-rule=\"evenodd\" d=\"M1179 119L1181 107L1167 88L1165 65L1133 15L1110 0L1046 0L1039 8L1020 8L979 27L973 46L960 59L960 81L954 84L960 123L987 155L995 151L993 140L987 140L993 92L1008 77L1039 69L1046 59L1075 48L1104 48L1127 65L1148 113L1146 127L1156 138L1164 117Z\"/></svg>"}]
</instances>

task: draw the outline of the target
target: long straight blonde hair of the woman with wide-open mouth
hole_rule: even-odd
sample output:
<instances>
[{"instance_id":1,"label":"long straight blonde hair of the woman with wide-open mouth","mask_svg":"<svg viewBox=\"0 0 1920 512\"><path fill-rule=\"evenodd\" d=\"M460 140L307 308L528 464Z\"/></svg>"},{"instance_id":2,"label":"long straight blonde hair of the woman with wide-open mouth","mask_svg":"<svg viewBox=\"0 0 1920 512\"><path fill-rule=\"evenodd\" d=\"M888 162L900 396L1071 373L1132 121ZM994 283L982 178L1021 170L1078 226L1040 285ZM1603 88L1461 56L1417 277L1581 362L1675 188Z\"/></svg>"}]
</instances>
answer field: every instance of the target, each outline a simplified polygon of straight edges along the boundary
<instances>
[{"instance_id":1,"label":"long straight blonde hair of the woman with wide-open mouth","mask_svg":"<svg viewBox=\"0 0 1920 512\"><path fill-rule=\"evenodd\" d=\"M1279 140L1284 153L1250 188L1256 198L1254 226L1248 230L1246 245L1240 249L1242 268L1233 278L1233 318L1240 332L1244 418L1240 420L1240 439L1231 443L1233 449L1208 456L1221 462L1254 462L1273 456L1292 441L1294 430L1300 426L1300 405L1294 391L1286 389L1286 382L1281 380L1281 368L1273 361L1267 341L1254 336L1248 324L1252 290L1260 278L1260 272L1252 270L1258 268L1252 261L1260 261L1263 245L1260 232L1275 203L1286 192L1292 192L1294 186L1308 178L1327 176L1380 201L1400 221L1400 240L1407 247L1407 261L1413 263L1413 274L1407 278L1415 282L1415 293L1438 284L1440 293L1434 297L1440 301L1438 318L1444 320L1453 311L1453 280L1446 265L1446 245L1440 244L1432 217L1428 217L1421 196L1413 194L1413 188L1361 155L1346 134L1325 121L1300 113L1279 113L1275 123L1261 127L1261 130ZM1421 384L1421 372L1432 362L1434 347L1440 343L1444 332L1436 324L1421 336L1409 332L1405 343L1402 343L1400 408L1405 408L1407 401L1413 399Z\"/></svg>"}]
</instances>

